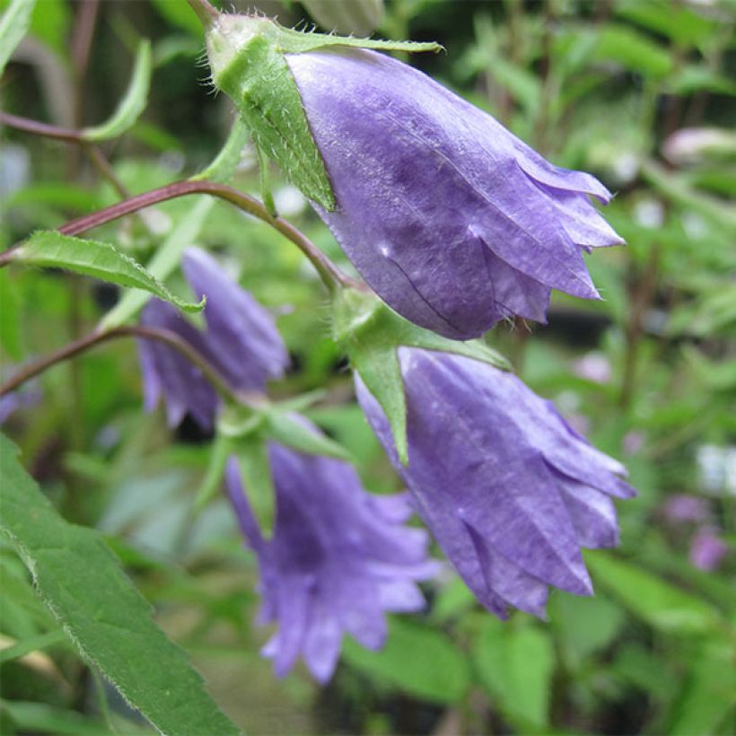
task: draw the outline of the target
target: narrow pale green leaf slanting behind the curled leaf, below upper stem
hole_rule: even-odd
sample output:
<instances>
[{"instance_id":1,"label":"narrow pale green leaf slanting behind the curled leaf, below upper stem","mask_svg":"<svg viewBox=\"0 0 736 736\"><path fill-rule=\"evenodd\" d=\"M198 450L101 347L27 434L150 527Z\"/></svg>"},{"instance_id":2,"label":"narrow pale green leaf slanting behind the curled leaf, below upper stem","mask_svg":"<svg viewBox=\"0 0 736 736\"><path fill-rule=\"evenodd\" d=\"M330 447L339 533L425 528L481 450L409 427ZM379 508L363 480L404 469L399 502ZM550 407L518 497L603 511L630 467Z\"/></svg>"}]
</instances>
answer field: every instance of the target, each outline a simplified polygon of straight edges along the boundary
<instances>
[{"instance_id":1,"label":"narrow pale green leaf slanting behind the curled leaf, below upper stem","mask_svg":"<svg viewBox=\"0 0 736 736\"><path fill-rule=\"evenodd\" d=\"M180 219L169 237L162 242L160 248L156 250L156 254L145 267L145 270L153 278L162 281L171 276L174 269L179 267L184 249L197 241L213 206L215 206L213 197L199 197L197 204L188 211L187 215ZM149 299L150 296L144 292L127 292L102 318L101 329L110 329L125 324L127 320L135 317L138 311L143 309L145 302Z\"/></svg>"}]
</instances>

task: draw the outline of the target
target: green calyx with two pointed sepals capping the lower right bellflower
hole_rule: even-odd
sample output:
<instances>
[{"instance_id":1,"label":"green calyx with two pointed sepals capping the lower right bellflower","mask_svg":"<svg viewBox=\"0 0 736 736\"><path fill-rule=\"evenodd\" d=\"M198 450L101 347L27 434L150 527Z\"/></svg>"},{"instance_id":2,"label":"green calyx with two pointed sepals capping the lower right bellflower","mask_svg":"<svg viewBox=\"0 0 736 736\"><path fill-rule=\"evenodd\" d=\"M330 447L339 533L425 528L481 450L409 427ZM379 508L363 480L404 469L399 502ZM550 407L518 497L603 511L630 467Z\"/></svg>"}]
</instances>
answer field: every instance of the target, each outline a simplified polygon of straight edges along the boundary
<instances>
[{"instance_id":1,"label":"green calyx with two pointed sepals capping the lower right bellflower","mask_svg":"<svg viewBox=\"0 0 736 736\"><path fill-rule=\"evenodd\" d=\"M481 340L451 340L400 317L375 294L343 289L333 302L333 337L353 370L389 420L399 460L408 462L407 402L399 365L400 346L452 353L510 371L503 355Z\"/></svg>"}]
</instances>

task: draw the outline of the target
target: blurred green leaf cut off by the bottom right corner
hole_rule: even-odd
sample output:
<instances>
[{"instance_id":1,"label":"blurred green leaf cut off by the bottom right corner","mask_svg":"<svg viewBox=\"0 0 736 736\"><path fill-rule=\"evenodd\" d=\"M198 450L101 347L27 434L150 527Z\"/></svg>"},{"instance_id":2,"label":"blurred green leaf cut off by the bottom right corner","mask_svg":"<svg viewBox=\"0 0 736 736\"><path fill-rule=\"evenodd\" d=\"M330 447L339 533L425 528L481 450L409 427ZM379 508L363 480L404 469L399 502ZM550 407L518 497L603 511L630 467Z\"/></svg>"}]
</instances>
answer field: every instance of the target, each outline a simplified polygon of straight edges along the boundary
<instances>
[{"instance_id":1,"label":"blurred green leaf cut off by the bottom right corner","mask_svg":"<svg viewBox=\"0 0 736 736\"><path fill-rule=\"evenodd\" d=\"M716 733L736 708L733 642L714 639L704 644L675 698L665 732L672 736Z\"/></svg>"}]
</instances>

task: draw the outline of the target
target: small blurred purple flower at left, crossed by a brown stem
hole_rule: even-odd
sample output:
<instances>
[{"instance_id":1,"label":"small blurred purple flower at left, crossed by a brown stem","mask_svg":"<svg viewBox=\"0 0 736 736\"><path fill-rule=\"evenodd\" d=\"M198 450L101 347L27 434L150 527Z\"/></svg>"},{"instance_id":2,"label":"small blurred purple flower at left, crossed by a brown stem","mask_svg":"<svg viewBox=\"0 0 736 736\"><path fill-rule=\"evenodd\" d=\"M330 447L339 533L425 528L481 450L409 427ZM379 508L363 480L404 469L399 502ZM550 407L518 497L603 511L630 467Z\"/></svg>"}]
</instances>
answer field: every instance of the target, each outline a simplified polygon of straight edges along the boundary
<instances>
[{"instance_id":1,"label":"small blurred purple flower at left, crossed by a brown stem","mask_svg":"<svg viewBox=\"0 0 736 736\"><path fill-rule=\"evenodd\" d=\"M182 267L197 297L207 297L206 330L195 328L171 304L156 299L145 306L141 324L179 335L215 366L232 389L263 392L268 379L282 376L289 361L274 320L203 250L187 250ZM155 340L140 340L139 353L145 407L152 410L163 396L171 426L189 413L199 425L211 428L217 410L215 390L197 366Z\"/></svg>"}]
</instances>

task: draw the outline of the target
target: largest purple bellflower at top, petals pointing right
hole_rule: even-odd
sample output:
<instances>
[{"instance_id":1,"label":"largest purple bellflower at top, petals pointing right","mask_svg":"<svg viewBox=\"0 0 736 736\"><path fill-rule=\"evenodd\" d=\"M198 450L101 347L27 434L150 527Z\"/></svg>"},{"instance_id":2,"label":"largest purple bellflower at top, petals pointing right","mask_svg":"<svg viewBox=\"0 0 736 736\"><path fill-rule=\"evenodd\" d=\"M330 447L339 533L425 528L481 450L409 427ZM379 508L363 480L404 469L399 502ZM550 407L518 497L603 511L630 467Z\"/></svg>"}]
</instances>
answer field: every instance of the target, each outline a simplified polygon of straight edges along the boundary
<instances>
[{"instance_id":1,"label":"largest purple bellflower at top, petals pointing right","mask_svg":"<svg viewBox=\"0 0 736 736\"><path fill-rule=\"evenodd\" d=\"M550 289L598 292L582 250L621 238L609 191L559 169L425 74L358 48L286 57L337 209L320 216L372 289L446 337L545 321Z\"/></svg>"}]
</instances>

